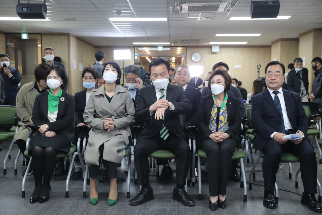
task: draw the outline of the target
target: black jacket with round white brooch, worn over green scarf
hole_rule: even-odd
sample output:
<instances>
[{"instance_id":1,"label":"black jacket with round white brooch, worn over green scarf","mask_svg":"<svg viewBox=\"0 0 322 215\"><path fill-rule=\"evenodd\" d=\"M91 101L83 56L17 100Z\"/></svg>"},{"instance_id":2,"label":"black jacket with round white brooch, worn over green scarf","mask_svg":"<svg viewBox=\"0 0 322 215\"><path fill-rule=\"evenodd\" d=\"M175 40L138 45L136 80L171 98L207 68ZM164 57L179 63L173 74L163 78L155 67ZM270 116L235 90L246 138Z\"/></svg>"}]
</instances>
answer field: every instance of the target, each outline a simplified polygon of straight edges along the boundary
<instances>
[{"instance_id":1,"label":"black jacket with round white brooch, worn over green scarf","mask_svg":"<svg viewBox=\"0 0 322 215\"><path fill-rule=\"evenodd\" d=\"M63 134L69 139L70 142L75 142L75 131L72 125L75 116L74 97L63 91L58 104L57 120L55 122L49 122L48 94L49 92L46 91L45 93L36 96L32 110L32 122L37 129L39 125L48 124L50 131ZM40 135L38 130L34 136L36 135Z\"/></svg>"}]
</instances>

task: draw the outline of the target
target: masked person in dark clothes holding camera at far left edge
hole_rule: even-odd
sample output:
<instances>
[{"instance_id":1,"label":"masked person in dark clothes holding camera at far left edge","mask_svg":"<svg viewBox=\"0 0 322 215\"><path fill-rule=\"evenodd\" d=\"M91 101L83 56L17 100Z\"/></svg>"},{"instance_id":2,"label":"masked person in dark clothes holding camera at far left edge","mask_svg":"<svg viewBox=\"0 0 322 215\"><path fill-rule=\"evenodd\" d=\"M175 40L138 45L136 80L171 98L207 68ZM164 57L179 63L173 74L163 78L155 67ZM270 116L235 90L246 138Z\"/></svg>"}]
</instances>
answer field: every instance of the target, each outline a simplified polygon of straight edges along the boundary
<instances>
[{"instance_id":1,"label":"masked person in dark clothes holding camera at far left edge","mask_svg":"<svg viewBox=\"0 0 322 215\"><path fill-rule=\"evenodd\" d=\"M19 91L18 84L21 79L19 71L10 66L10 60L7 54L0 54L0 66L0 76L4 81L5 91L5 97L2 103L4 105L16 106L16 96Z\"/></svg>"}]
</instances>

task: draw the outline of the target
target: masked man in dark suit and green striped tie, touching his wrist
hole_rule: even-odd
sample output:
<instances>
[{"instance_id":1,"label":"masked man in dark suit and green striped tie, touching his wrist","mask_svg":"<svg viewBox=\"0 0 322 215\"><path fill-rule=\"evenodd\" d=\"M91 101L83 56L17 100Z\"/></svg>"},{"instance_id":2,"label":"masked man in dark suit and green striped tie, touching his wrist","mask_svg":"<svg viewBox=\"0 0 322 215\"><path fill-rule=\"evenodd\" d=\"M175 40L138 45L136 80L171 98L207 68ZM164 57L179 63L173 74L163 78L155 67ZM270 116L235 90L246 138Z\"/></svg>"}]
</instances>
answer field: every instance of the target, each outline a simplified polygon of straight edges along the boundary
<instances>
[{"instance_id":1,"label":"masked man in dark suit and green striped tie, touching his wrist","mask_svg":"<svg viewBox=\"0 0 322 215\"><path fill-rule=\"evenodd\" d=\"M193 107L182 87L169 84L169 70L168 61L154 59L149 65L153 85L142 88L139 93L134 117L136 123L145 123L145 126L134 146L134 162L142 189L130 201L131 205L154 199L148 156L156 150L168 150L176 155L177 185L172 198L185 206L195 205L184 190L191 155L179 119L179 113L189 114Z\"/></svg>"}]
</instances>

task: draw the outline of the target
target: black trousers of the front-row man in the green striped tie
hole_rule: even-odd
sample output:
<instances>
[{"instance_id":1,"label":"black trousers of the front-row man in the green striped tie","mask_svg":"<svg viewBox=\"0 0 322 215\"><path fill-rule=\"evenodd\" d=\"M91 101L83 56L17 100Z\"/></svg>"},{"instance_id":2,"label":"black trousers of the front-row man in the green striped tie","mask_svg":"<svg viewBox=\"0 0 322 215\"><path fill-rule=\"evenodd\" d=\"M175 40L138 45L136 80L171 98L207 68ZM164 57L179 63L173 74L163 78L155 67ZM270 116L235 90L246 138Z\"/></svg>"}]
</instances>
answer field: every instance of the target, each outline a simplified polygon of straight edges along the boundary
<instances>
[{"instance_id":1,"label":"black trousers of the front-row man in the green striped tie","mask_svg":"<svg viewBox=\"0 0 322 215\"><path fill-rule=\"evenodd\" d=\"M138 183L149 183L150 166L148 156L156 150L168 150L176 155L177 183L185 185L191 160L190 148L184 139L175 136L171 132L169 132L169 137L166 140L163 140L157 134L152 138L140 139L134 146L134 163Z\"/></svg>"}]
</instances>

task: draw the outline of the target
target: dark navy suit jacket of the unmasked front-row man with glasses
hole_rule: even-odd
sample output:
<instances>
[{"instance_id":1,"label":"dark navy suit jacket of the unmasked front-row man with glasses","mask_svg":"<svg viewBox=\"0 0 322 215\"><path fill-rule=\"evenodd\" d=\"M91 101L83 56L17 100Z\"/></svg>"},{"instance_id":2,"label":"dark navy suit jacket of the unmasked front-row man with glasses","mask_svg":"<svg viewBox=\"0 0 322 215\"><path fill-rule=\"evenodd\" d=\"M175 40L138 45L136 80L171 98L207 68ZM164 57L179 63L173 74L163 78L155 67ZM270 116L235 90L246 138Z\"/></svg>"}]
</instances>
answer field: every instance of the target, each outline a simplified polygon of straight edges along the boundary
<instances>
[{"instance_id":1,"label":"dark navy suit jacket of the unmasked front-row man with glasses","mask_svg":"<svg viewBox=\"0 0 322 215\"><path fill-rule=\"evenodd\" d=\"M284 101L288 119L294 133L302 131L306 136L308 119L303 109L302 100L298 93L283 89ZM278 132L282 119L277 106L268 89L260 94L252 96L252 125L258 133L254 139L256 150L262 149L270 139L270 135Z\"/></svg>"}]
</instances>

